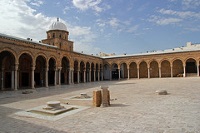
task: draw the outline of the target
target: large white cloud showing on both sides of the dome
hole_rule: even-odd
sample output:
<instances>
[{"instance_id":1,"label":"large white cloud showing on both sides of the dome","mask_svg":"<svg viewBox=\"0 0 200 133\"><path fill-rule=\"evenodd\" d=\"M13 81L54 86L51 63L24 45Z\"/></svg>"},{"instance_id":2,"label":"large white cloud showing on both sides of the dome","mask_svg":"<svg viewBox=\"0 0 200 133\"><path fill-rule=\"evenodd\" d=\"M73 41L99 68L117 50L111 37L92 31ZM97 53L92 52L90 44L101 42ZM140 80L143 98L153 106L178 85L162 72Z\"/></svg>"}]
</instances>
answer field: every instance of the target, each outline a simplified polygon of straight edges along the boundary
<instances>
[{"instance_id":1,"label":"large white cloud showing on both sides of the dome","mask_svg":"<svg viewBox=\"0 0 200 133\"><path fill-rule=\"evenodd\" d=\"M1 0L1 33L24 39L32 38L35 41L46 38L46 31L56 18L37 13L28 6L28 2L29 0ZM61 22L65 23L63 20ZM74 41L76 51L85 51L85 53L98 51L98 48L91 44L96 36L90 27L65 24L69 29L70 38Z\"/></svg>"}]
</instances>

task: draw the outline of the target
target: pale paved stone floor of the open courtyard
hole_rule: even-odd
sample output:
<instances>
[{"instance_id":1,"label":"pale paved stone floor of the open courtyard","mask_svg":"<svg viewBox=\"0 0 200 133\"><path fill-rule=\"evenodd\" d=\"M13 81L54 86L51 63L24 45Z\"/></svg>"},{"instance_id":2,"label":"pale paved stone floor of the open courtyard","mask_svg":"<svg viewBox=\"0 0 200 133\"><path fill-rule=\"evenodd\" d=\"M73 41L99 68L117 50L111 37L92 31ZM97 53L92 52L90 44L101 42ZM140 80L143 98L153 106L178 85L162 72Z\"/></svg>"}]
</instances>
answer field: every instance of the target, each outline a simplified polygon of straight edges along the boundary
<instances>
[{"instance_id":1,"label":"pale paved stone floor of the open courtyard","mask_svg":"<svg viewBox=\"0 0 200 133\"><path fill-rule=\"evenodd\" d=\"M109 86L111 107L66 98ZM156 90L169 95L156 95ZM131 79L0 92L0 133L200 133L200 78ZM57 121L15 113L60 100L91 106Z\"/></svg>"}]
</instances>

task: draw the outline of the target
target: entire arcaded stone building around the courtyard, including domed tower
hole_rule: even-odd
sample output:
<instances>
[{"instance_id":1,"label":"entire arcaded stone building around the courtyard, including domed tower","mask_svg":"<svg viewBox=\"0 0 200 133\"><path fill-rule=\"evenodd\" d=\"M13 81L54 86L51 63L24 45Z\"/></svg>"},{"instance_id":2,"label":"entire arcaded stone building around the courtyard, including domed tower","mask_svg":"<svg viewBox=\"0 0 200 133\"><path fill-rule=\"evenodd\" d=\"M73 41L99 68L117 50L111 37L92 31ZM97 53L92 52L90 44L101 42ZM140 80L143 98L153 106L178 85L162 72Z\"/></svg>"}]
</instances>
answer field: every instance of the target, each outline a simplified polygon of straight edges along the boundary
<instances>
[{"instance_id":1,"label":"entire arcaded stone building around the courtyard, including domed tower","mask_svg":"<svg viewBox=\"0 0 200 133\"><path fill-rule=\"evenodd\" d=\"M73 51L67 27L57 20L47 39L34 42L0 34L0 88L17 90L130 78L199 76L200 45L121 56Z\"/></svg>"}]
</instances>

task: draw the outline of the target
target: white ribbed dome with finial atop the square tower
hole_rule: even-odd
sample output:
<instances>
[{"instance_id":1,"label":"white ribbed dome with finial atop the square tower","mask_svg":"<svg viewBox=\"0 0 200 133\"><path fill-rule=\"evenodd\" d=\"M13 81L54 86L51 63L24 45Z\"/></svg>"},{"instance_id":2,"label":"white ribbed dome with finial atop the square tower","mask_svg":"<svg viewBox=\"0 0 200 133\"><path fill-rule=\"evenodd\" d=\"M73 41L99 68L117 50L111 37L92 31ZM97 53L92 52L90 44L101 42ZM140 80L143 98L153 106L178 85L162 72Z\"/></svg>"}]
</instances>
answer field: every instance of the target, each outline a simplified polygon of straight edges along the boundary
<instances>
[{"instance_id":1,"label":"white ribbed dome with finial atop the square tower","mask_svg":"<svg viewBox=\"0 0 200 133\"><path fill-rule=\"evenodd\" d=\"M64 23L59 22L59 18L57 18L57 21L53 22L51 24L51 26L49 27L49 30L64 30L64 31L67 31L67 26Z\"/></svg>"}]
</instances>

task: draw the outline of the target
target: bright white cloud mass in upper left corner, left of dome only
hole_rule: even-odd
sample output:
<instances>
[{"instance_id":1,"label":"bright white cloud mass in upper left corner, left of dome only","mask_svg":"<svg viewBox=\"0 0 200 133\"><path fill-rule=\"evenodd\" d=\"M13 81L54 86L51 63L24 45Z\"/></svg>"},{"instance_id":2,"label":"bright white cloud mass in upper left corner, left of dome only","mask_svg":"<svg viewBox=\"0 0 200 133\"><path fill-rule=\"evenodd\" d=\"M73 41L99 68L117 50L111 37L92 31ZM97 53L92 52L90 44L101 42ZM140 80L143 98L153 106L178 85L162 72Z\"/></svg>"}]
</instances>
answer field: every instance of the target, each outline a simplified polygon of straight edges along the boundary
<instances>
[{"instance_id":1,"label":"bright white cloud mass in upper left corner, left of dome only","mask_svg":"<svg viewBox=\"0 0 200 133\"><path fill-rule=\"evenodd\" d=\"M46 17L27 6L27 0L1 0L0 31L18 37L41 40L53 18ZM43 33L44 32L44 33Z\"/></svg>"}]
</instances>

